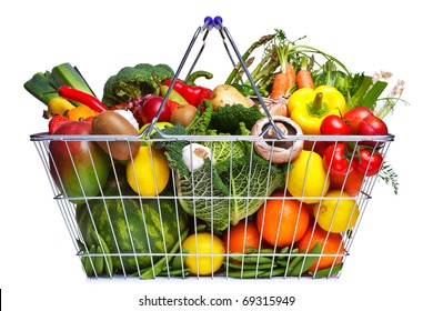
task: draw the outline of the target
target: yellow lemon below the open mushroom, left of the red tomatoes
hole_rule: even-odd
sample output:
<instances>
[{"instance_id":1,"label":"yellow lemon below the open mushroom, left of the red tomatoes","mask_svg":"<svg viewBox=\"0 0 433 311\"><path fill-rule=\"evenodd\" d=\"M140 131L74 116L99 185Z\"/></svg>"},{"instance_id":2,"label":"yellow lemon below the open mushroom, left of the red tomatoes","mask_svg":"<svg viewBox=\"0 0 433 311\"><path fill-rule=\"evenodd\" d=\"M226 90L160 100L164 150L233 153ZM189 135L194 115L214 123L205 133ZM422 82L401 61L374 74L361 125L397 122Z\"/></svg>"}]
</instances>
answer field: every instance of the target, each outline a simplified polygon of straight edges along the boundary
<instances>
[{"instance_id":1,"label":"yellow lemon below the open mushroom, left of the red tomatoes","mask_svg":"<svg viewBox=\"0 0 433 311\"><path fill-rule=\"evenodd\" d=\"M305 203L320 201L329 188L330 180L323 168L323 159L319 153L302 150L289 171L286 188L293 197Z\"/></svg>"}]
</instances>

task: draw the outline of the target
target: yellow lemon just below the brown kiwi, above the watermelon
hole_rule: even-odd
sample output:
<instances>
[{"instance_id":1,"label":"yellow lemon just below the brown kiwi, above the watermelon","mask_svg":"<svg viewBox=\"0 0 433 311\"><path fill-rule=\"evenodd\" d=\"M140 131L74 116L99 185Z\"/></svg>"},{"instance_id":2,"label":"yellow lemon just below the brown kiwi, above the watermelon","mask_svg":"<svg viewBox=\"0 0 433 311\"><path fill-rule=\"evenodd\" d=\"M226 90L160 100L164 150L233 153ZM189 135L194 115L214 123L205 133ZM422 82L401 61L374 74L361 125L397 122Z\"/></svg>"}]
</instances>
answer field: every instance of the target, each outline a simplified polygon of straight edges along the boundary
<instances>
[{"instance_id":1,"label":"yellow lemon just below the brown kiwi, above the watermelon","mask_svg":"<svg viewBox=\"0 0 433 311\"><path fill-rule=\"evenodd\" d=\"M127 163L129 185L140 195L154 197L169 183L170 168L163 151L141 146L137 156Z\"/></svg>"}]
</instances>

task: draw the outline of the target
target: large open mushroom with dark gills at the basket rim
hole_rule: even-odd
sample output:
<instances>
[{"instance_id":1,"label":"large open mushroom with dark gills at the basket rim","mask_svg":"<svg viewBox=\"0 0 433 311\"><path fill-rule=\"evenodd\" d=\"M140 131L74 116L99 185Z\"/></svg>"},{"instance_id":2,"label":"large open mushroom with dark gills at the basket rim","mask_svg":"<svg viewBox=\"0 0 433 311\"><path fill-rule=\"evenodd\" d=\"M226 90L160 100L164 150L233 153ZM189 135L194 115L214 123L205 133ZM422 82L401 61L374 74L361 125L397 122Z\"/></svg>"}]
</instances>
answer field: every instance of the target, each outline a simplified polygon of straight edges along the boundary
<instances>
[{"instance_id":1,"label":"large open mushroom with dark gills at the basket rim","mask_svg":"<svg viewBox=\"0 0 433 311\"><path fill-rule=\"evenodd\" d=\"M268 118L260 119L251 129L251 134L262 136L262 139L254 141L254 150L264 160L270 160L274 164L289 163L301 153L304 141L290 140L286 137L302 136L302 129L288 117L274 116L272 120L284 137L279 139L275 128Z\"/></svg>"}]
</instances>

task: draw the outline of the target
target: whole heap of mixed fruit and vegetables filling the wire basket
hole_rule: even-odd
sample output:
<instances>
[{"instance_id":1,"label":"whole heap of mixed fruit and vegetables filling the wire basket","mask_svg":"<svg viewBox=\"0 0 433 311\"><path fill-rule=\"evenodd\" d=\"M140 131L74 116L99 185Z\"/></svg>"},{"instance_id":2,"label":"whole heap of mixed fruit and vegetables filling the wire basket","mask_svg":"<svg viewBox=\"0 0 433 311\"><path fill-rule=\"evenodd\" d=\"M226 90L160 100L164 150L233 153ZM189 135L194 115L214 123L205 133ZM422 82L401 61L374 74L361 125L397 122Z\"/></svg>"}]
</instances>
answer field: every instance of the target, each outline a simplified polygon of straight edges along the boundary
<instances>
[{"instance_id":1,"label":"whole heap of mixed fruit and vegetables filling the wire basket","mask_svg":"<svg viewBox=\"0 0 433 311\"><path fill-rule=\"evenodd\" d=\"M212 89L197 82L210 72L174 81L164 63L122 68L102 100L70 63L24 83L47 108L48 169L88 275L339 273L364 185L397 191L384 118L404 82L383 97L389 73L351 73L281 30L243 59L252 80L238 64Z\"/></svg>"}]
</instances>

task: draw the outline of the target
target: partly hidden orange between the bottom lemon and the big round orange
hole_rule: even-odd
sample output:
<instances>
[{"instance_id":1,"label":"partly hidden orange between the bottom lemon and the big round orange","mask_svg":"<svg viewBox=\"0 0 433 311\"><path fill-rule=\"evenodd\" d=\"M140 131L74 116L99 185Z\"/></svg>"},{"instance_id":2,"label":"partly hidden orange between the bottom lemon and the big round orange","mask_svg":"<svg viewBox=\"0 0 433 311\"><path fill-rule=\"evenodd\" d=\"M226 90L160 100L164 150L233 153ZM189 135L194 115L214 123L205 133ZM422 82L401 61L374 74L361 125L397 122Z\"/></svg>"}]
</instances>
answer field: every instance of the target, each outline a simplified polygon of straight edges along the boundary
<instances>
[{"instance_id":1,"label":"partly hidden orange between the bottom lemon and the big round orange","mask_svg":"<svg viewBox=\"0 0 433 311\"><path fill-rule=\"evenodd\" d=\"M222 233L228 252L248 253L246 247L260 249L260 231L253 221L241 220Z\"/></svg>"}]
</instances>

